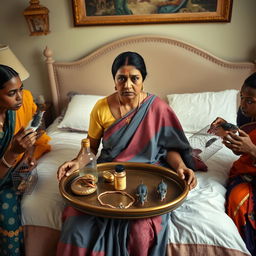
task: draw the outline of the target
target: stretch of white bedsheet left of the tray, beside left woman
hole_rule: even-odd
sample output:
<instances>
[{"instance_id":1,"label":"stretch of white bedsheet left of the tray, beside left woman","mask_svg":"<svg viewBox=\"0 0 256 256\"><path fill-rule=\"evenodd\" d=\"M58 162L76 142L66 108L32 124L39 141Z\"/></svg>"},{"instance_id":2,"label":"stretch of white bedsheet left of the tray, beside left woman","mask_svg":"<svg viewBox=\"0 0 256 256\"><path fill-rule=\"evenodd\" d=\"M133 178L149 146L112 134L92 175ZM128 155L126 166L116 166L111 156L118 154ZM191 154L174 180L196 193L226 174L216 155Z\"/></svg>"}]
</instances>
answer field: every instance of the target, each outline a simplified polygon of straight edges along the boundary
<instances>
[{"instance_id":1,"label":"stretch of white bedsheet left of the tray, beside left woman","mask_svg":"<svg viewBox=\"0 0 256 256\"><path fill-rule=\"evenodd\" d=\"M38 182L31 195L22 199L22 223L61 229L61 213L65 207L57 181L57 168L74 158L85 133L63 132L57 128L58 120L49 127L51 152L45 154L37 165Z\"/></svg>"}]
</instances>

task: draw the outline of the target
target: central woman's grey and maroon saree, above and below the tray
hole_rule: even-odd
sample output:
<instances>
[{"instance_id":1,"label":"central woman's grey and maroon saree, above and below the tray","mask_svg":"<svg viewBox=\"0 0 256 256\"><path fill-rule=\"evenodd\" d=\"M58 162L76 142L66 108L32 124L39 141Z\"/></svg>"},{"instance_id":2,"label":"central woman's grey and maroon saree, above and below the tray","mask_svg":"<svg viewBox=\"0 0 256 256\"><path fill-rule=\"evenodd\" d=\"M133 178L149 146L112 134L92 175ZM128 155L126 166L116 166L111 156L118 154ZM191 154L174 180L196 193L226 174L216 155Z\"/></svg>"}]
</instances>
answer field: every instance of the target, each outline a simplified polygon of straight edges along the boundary
<instances>
[{"instance_id":1,"label":"central woman's grey and maroon saree, above and below the tray","mask_svg":"<svg viewBox=\"0 0 256 256\"><path fill-rule=\"evenodd\" d=\"M190 145L174 112L160 98L149 95L139 109L106 129L98 162L166 165L168 150L180 152L186 165L193 168ZM138 220L108 219L68 206L63 212L57 255L165 255L169 218L167 213Z\"/></svg>"}]
</instances>

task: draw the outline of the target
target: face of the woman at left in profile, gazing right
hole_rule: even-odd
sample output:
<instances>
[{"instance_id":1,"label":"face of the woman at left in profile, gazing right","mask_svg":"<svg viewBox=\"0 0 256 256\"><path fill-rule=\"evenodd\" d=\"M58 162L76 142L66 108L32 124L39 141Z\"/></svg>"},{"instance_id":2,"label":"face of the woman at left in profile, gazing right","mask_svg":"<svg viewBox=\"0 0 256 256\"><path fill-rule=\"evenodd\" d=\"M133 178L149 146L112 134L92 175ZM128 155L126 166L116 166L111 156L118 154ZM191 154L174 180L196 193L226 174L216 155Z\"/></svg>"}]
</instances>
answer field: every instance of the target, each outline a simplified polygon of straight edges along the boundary
<instances>
[{"instance_id":1,"label":"face of the woman at left in profile, gazing right","mask_svg":"<svg viewBox=\"0 0 256 256\"><path fill-rule=\"evenodd\" d=\"M23 84L19 77L13 77L0 89L0 109L17 110L22 105Z\"/></svg>"}]
</instances>

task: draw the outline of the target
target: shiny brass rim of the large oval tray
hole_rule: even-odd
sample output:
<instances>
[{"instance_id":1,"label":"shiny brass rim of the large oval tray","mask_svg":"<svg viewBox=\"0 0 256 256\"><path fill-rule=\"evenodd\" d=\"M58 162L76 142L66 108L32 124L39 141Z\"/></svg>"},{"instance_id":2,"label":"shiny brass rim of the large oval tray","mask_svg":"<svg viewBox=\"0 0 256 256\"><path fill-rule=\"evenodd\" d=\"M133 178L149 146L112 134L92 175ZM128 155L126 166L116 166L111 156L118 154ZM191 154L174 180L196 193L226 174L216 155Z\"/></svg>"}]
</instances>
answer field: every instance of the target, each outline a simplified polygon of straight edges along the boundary
<instances>
[{"instance_id":1,"label":"shiny brass rim of the large oval tray","mask_svg":"<svg viewBox=\"0 0 256 256\"><path fill-rule=\"evenodd\" d=\"M79 201L80 201L79 197L75 198L74 200L74 198L72 198L70 193L68 193L65 189L65 186L68 185L69 182L73 181L75 178L79 176L79 171L76 170L71 175L64 176L61 179L59 183L59 190L60 190L61 196L74 208L87 214L92 214L92 215L106 217L106 218L139 219L139 218L145 218L145 217L153 217L153 216L170 212L176 209L178 206L180 206L188 195L189 186L187 185L186 181L182 180L178 176L178 174L173 170L163 166L147 164L147 163L137 163L137 162L106 162L106 163L97 164L97 168L98 169L111 168L111 167L113 168L117 164L123 164L126 168L133 168L133 169L134 168L155 169L157 171L160 171L161 173L164 173L167 176L169 174L172 178L174 178L177 184L179 184L181 187L184 187L183 192L175 200L172 200L171 202L166 204L153 206L153 207L128 208L128 209L114 208L113 209L113 208L90 205L90 204L87 204L86 206L82 207L79 205ZM103 170L100 170L100 172L101 171Z\"/></svg>"}]
</instances>

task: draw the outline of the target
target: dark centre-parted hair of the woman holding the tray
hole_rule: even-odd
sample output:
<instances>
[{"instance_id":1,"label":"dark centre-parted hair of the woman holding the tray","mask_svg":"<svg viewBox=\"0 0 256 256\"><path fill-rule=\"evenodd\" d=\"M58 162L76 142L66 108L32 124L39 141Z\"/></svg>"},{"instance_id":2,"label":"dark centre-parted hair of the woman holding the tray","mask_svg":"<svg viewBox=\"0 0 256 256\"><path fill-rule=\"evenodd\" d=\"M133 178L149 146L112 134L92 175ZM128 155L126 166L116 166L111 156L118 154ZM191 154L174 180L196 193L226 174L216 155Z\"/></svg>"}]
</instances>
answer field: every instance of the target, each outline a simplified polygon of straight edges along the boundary
<instances>
[{"instance_id":1,"label":"dark centre-parted hair of the woman holding the tray","mask_svg":"<svg viewBox=\"0 0 256 256\"><path fill-rule=\"evenodd\" d=\"M119 54L112 64L112 76L115 79L118 69L122 66L134 66L142 75L143 81L147 76L147 69L144 59L137 52L123 52Z\"/></svg>"}]
</instances>

